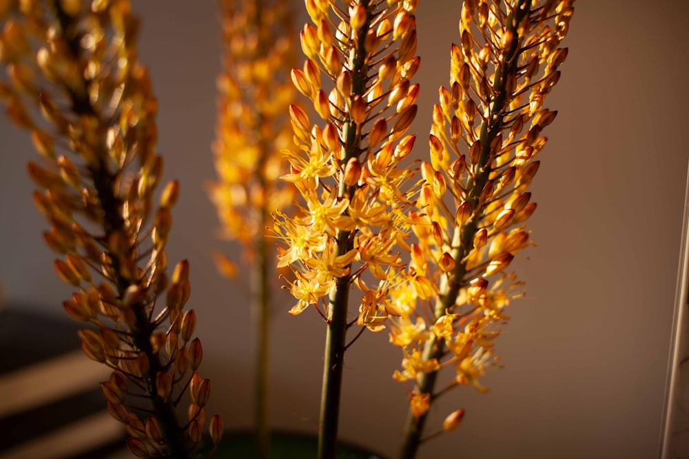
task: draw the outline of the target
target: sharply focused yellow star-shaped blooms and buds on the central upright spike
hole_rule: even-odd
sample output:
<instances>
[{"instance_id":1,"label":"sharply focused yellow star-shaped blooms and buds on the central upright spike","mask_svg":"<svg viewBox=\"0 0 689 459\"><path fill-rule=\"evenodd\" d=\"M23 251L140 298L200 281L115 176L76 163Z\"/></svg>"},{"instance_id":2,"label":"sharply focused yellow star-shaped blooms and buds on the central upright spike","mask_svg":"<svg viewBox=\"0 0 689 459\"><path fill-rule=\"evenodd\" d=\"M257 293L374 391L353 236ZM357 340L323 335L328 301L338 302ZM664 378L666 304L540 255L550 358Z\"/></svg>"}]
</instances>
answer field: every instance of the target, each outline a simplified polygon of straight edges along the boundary
<instances>
[{"instance_id":1,"label":"sharply focused yellow star-shaped blooms and buds on the central upright spike","mask_svg":"<svg viewBox=\"0 0 689 459\"><path fill-rule=\"evenodd\" d=\"M312 125L307 109L290 108L299 148L286 152L284 179L306 205L292 219L281 215L275 232L285 242L278 266L296 274L291 314L318 309L329 295L346 308L353 284L361 290L357 323L384 328L389 279L402 266L396 247L409 248L402 228L413 202L401 189L412 171L401 164L415 140L406 134L419 94L411 83L420 63L416 3L306 1L313 22L301 32L307 58L291 76L324 121ZM369 288L364 273L378 286Z\"/></svg>"}]
</instances>

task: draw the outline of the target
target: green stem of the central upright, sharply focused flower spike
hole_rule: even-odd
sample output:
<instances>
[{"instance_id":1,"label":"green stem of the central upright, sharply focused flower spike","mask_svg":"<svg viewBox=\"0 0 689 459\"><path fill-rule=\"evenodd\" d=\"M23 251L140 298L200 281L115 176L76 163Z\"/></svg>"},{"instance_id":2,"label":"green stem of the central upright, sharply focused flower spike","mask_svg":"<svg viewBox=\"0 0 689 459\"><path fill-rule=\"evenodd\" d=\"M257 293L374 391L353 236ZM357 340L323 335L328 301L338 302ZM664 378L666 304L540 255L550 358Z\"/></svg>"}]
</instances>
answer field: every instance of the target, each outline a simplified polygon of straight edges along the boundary
<instances>
[{"instance_id":1,"label":"green stem of the central upright, sharply focused flower spike","mask_svg":"<svg viewBox=\"0 0 689 459\"><path fill-rule=\"evenodd\" d=\"M367 19L356 36L356 43L351 47L349 68L352 72L352 96L363 96L366 92L366 78L368 64L364 39L371 23L369 1L363 0L362 6L367 8ZM342 135L345 137L345 155L342 164L347 164L350 158L358 158L361 153L360 128L347 115L342 125ZM340 177L338 198L351 198L356 190L355 186L345 184L344 173ZM347 211L345 211L347 213ZM338 230L337 256L345 255L354 247L351 231ZM351 264L349 265L351 268ZM337 451L338 419L340 417L340 394L342 392L342 370L344 365L346 336L347 336L347 306L349 303L349 275L338 277L336 290L330 297L328 308L328 326L325 336L325 363L323 365L323 386L320 400L320 423L318 428L318 459L334 459Z\"/></svg>"}]
</instances>

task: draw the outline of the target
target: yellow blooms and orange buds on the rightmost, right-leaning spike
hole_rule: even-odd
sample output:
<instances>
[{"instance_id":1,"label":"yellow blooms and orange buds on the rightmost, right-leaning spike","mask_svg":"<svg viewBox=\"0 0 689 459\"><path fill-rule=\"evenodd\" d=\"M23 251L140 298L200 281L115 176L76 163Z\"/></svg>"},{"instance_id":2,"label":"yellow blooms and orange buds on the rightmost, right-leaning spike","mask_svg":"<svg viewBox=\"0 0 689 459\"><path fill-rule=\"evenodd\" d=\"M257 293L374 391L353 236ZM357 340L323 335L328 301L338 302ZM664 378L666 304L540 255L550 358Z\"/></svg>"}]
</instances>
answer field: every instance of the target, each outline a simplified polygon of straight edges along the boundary
<instances>
[{"instance_id":1,"label":"yellow blooms and orange buds on the rightmost, right-leaning spike","mask_svg":"<svg viewBox=\"0 0 689 459\"><path fill-rule=\"evenodd\" d=\"M546 143L542 131L557 114L542 104L567 55L558 45L572 3L464 1L450 87L440 88L430 162L421 167L420 211L411 217L418 242L409 282L391 290L401 313L391 341L404 352L395 378L415 382L412 430L422 429L440 367L455 367L451 385L485 390L478 378L494 361L497 325L520 295L520 282L505 271L529 243L524 221L536 205L528 185Z\"/></svg>"}]
</instances>

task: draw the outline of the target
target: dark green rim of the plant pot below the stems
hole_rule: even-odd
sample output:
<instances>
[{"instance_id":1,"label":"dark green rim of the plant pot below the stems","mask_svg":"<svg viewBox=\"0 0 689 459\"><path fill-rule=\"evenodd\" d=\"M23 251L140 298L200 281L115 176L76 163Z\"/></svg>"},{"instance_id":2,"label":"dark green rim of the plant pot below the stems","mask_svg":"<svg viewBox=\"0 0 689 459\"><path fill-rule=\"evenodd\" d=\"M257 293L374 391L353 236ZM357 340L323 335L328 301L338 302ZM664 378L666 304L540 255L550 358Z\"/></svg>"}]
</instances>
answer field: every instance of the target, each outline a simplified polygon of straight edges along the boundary
<instances>
[{"instance_id":1,"label":"dark green rim of the plant pot below the stems","mask_svg":"<svg viewBox=\"0 0 689 459\"><path fill-rule=\"evenodd\" d=\"M205 445L203 457L208 457L212 446ZM311 459L316 457L318 438L308 434L276 431L271 434L270 459ZM223 440L213 456L214 459L254 459L256 458L256 443L251 431L225 431ZM340 443L338 459L384 459L371 451L360 447Z\"/></svg>"}]
</instances>

